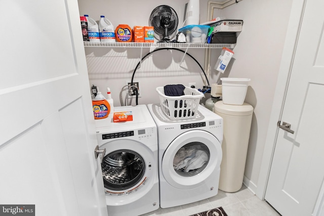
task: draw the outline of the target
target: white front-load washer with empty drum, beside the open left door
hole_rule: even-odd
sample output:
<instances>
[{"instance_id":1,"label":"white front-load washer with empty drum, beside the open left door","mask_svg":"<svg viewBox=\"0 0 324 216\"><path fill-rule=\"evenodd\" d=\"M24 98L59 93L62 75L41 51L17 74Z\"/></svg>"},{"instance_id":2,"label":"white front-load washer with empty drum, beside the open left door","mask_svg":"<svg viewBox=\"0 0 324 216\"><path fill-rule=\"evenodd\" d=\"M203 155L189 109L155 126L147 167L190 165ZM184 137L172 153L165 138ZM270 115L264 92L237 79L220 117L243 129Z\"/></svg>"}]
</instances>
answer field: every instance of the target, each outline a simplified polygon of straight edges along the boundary
<instances>
[{"instance_id":1,"label":"white front-load washer with empty drum, beside the open left door","mask_svg":"<svg viewBox=\"0 0 324 216\"><path fill-rule=\"evenodd\" d=\"M115 107L133 120L97 119L99 149L109 216L140 215L159 208L156 124L146 105Z\"/></svg>"}]
</instances>

